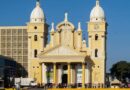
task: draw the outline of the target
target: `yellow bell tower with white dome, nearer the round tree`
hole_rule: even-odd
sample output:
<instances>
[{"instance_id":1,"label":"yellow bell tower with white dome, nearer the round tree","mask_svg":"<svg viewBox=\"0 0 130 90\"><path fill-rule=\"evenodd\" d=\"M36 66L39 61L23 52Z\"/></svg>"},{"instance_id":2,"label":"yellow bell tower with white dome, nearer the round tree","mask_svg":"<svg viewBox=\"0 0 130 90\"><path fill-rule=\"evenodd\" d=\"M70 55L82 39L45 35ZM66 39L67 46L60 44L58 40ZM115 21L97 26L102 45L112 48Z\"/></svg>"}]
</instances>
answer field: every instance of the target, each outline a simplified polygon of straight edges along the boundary
<instances>
[{"instance_id":1,"label":"yellow bell tower with white dome, nearer the round tree","mask_svg":"<svg viewBox=\"0 0 130 90\"><path fill-rule=\"evenodd\" d=\"M88 22L89 51L94 66L92 67L92 83L105 84L106 73L106 37L107 23L104 10L96 0L96 6L90 14Z\"/></svg>"}]
</instances>

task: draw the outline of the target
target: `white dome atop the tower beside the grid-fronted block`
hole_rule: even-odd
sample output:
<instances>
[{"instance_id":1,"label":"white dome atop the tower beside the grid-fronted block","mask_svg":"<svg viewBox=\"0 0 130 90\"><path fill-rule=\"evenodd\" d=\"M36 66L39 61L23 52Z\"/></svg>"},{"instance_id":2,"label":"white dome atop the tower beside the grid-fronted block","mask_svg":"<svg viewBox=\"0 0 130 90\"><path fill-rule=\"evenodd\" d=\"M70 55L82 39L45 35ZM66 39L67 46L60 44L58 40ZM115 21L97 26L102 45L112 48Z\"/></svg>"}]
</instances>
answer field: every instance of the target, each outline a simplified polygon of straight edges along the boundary
<instances>
[{"instance_id":1,"label":"white dome atop the tower beside the grid-fronted block","mask_svg":"<svg viewBox=\"0 0 130 90\"><path fill-rule=\"evenodd\" d=\"M36 2L36 7L33 9L31 16L30 16L30 22L31 23L42 23L45 20L45 16L43 13L42 8L40 7L39 0Z\"/></svg>"}]
</instances>

